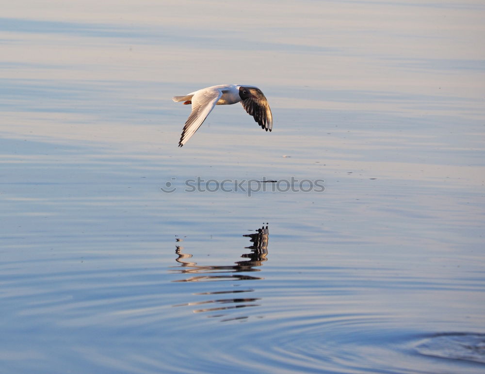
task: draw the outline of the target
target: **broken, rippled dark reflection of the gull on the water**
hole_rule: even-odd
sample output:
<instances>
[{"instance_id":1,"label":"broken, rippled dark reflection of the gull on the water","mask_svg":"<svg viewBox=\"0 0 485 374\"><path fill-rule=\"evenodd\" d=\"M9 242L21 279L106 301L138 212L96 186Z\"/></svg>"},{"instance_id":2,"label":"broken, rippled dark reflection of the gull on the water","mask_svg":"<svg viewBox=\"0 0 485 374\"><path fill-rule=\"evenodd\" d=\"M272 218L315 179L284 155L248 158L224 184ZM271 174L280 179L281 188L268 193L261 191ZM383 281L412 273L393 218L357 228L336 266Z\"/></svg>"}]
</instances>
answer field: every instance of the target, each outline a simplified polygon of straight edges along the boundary
<instances>
[{"instance_id":1,"label":"broken, rippled dark reflection of the gull on the water","mask_svg":"<svg viewBox=\"0 0 485 374\"><path fill-rule=\"evenodd\" d=\"M269 238L269 230L268 226L259 228L256 233L243 235L244 237L251 238L250 241L252 243L251 246L245 247L251 250L251 253L243 253L242 258L248 259L243 261L237 261L234 265L229 266L199 266L194 261L189 261L188 259L192 258L191 254L183 253L183 247L177 245L176 253L178 254L178 258L176 261L181 264L180 267L175 270L177 273L182 274L204 274L204 275L197 275L191 276L186 279L179 279L174 280L174 282L202 282L202 281L224 281L224 280L255 280L255 279L263 279L260 277L255 276L248 276L243 274L226 274L226 275L214 275L215 273L243 273L243 272L255 272L260 271L260 269L255 269L255 267L259 267L262 265L262 262L266 261L266 256L268 254L268 238ZM231 291L216 291L216 292L204 292L204 293L197 293L199 295L209 295L209 294L224 294L224 293L243 293L243 292L252 292L254 290L231 290ZM245 307L256 307L259 304L248 304L252 303L259 298L229 298L229 299L217 299L217 300L208 300L208 301L201 301L201 302L193 302L193 303L186 303L176 306L187 306L187 305L201 305L201 304L210 304L210 303L217 303L217 304L236 304L230 306L220 306L217 308L208 308L208 309L195 309L194 312L208 312L208 311L220 311L220 310L228 310L228 309L239 309ZM211 317L222 317L224 315L217 314L212 315ZM234 320L234 319L246 319L247 316L236 317L236 318L229 318L223 321Z\"/></svg>"}]
</instances>

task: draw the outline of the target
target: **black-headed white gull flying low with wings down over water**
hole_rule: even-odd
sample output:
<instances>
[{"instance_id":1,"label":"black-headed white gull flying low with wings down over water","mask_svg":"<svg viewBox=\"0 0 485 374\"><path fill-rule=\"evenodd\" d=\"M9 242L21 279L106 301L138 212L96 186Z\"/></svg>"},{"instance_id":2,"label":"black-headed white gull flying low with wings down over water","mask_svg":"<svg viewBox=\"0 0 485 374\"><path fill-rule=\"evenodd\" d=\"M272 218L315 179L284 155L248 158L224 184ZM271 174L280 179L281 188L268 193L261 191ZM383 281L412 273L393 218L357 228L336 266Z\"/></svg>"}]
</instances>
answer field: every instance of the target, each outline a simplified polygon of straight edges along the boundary
<instances>
[{"instance_id":1,"label":"black-headed white gull flying low with wings down over water","mask_svg":"<svg viewBox=\"0 0 485 374\"><path fill-rule=\"evenodd\" d=\"M202 88L185 96L175 96L174 101L192 104L192 113L183 127L178 146L181 147L194 135L216 105L235 104L241 101L245 111L254 117L259 126L266 131L273 129L273 115L268 100L255 86L239 84L220 84Z\"/></svg>"}]
</instances>

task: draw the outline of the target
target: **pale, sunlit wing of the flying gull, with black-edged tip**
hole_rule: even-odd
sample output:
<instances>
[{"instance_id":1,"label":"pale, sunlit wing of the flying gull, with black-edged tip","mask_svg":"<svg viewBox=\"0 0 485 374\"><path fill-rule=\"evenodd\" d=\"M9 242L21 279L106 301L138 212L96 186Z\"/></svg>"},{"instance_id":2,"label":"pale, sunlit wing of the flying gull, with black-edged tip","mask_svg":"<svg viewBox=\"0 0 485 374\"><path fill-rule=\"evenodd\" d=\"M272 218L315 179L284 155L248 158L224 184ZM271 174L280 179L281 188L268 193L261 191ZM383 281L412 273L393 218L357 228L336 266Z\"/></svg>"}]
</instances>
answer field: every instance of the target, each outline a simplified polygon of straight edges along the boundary
<instances>
[{"instance_id":1,"label":"pale, sunlit wing of the flying gull, with black-edged tip","mask_svg":"<svg viewBox=\"0 0 485 374\"><path fill-rule=\"evenodd\" d=\"M192 113L187 118L183 127L182 135L178 146L181 147L194 135L195 131L202 125L210 111L222 96L222 90L205 88L195 92L192 97Z\"/></svg>"}]
</instances>

